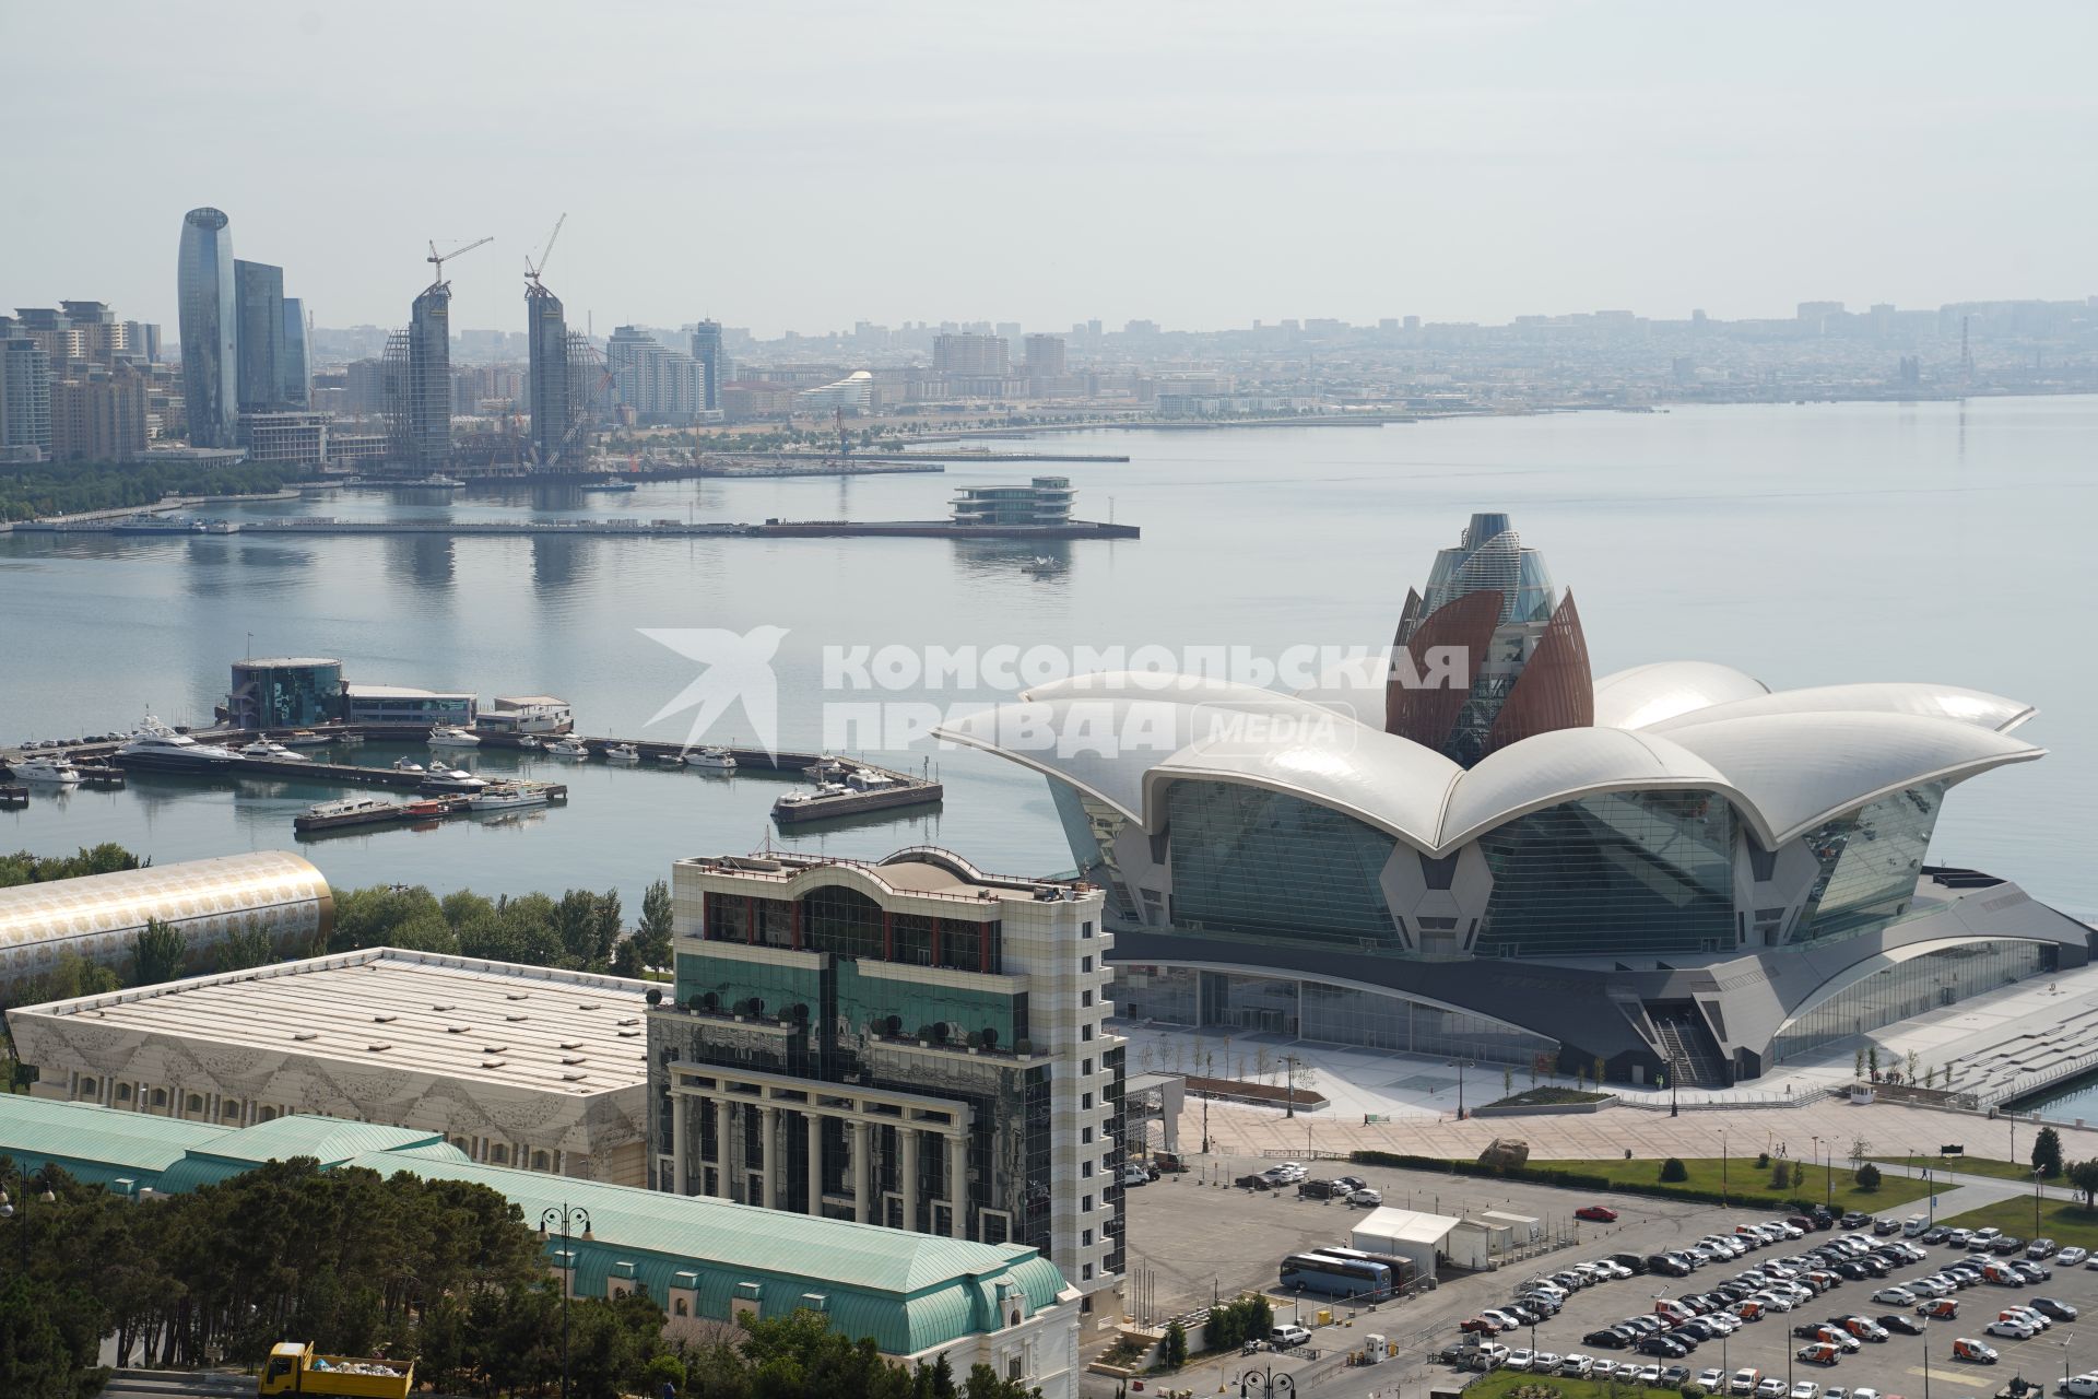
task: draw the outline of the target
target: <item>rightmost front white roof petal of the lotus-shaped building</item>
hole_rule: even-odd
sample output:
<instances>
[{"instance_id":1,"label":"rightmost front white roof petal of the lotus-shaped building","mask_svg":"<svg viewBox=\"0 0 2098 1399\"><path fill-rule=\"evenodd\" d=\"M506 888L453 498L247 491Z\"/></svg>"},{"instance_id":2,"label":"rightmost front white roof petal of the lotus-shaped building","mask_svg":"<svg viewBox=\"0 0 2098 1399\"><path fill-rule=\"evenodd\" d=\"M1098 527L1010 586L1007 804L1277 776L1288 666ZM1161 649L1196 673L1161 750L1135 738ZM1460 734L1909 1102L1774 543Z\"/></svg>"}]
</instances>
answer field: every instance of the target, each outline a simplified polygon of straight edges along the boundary
<instances>
[{"instance_id":1,"label":"rightmost front white roof petal of the lotus-shaped building","mask_svg":"<svg viewBox=\"0 0 2098 1399\"><path fill-rule=\"evenodd\" d=\"M1987 728L1907 713L1758 713L1689 724L1668 740L1727 774L1762 814L1771 847L1903 787L1960 782L2046 753Z\"/></svg>"}]
</instances>

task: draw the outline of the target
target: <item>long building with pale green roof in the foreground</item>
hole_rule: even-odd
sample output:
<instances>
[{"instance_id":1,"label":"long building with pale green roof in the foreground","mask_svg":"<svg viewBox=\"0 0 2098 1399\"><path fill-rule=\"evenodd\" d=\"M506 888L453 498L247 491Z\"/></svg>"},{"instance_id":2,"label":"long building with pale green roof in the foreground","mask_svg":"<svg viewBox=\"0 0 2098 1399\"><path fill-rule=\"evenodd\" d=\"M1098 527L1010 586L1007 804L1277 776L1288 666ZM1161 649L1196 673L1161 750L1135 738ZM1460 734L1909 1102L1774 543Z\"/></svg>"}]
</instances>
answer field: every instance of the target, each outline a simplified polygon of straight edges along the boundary
<instances>
[{"instance_id":1,"label":"long building with pale green roof in the foreground","mask_svg":"<svg viewBox=\"0 0 2098 1399\"><path fill-rule=\"evenodd\" d=\"M527 1221L548 1208L590 1214L581 1237L545 1240L548 1267L571 1296L636 1288L665 1309L665 1332L701 1340L738 1315L822 1311L890 1357L959 1372L986 1363L1076 1399L1078 1307L1032 1248L904 1235L879 1225L791 1219L724 1200L692 1200L531 1170L480 1166L430 1133L290 1116L250 1128L143 1118L88 1103L0 1095L0 1156L124 1193L185 1193L269 1160L311 1156L323 1170L409 1172L468 1181L508 1198Z\"/></svg>"}]
</instances>

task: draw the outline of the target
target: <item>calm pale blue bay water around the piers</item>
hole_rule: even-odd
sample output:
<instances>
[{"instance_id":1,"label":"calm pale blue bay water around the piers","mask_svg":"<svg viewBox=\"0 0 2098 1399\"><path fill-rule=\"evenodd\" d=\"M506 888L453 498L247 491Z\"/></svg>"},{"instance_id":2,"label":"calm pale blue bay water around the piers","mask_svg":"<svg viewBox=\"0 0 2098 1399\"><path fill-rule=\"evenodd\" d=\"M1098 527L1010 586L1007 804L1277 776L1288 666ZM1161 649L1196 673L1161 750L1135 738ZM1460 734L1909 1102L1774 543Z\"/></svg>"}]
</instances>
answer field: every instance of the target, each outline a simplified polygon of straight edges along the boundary
<instances>
[{"instance_id":1,"label":"calm pale blue bay water around the piers","mask_svg":"<svg viewBox=\"0 0 2098 1399\"><path fill-rule=\"evenodd\" d=\"M686 717L648 719L699 667L638 629L778 625L780 742L818 747L825 646L1378 646L1433 552L1473 510L1506 510L1580 600L1597 673L1689 657L1773 688L1943 680L2039 705L2020 736L2052 755L1955 791L1932 856L2098 914L2088 705L2098 663L2083 617L2098 399L1093 432L1041 445L1133 459L453 503L344 493L224 514L932 518L957 487L1062 470L1083 516L1104 518L1112 497L1114 518L1141 524L1143 539L1070 543L1066 573L1032 577L1022 566L1036 545L997 541L0 535L0 734L103 732L149 709L206 722L252 633L254 654L340 657L350 680L550 692L575 705L583 732L678 738ZM741 715L718 736L736 730L749 736ZM424 753L369 745L359 761L405 751ZM485 770L514 761L466 757ZM934 763L944 808L785 843L881 856L936 841L999 870L1068 866L1041 778L967 751L883 761ZM787 791L759 776L531 766L562 770L566 810L294 843L292 816L336 793L134 776L124 793L40 795L0 812L0 847L113 839L157 860L296 847L338 885L590 885L617 887L631 906L673 858L759 845L772 797Z\"/></svg>"}]
</instances>

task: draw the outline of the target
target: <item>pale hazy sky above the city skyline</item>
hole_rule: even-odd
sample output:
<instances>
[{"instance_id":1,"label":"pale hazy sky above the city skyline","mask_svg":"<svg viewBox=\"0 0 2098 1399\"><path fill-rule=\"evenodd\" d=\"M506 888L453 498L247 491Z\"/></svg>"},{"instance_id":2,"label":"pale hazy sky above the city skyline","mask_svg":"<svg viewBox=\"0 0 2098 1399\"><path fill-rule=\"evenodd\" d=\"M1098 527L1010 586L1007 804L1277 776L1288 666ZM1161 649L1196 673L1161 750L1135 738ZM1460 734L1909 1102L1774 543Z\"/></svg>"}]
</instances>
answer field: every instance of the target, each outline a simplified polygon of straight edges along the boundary
<instances>
[{"instance_id":1,"label":"pale hazy sky above the city skyline","mask_svg":"<svg viewBox=\"0 0 2098 1399\"><path fill-rule=\"evenodd\" d=\"M2098 292L2092 4L0 0L0 306L1175 327Z\"/></svg>"}]
</instances>

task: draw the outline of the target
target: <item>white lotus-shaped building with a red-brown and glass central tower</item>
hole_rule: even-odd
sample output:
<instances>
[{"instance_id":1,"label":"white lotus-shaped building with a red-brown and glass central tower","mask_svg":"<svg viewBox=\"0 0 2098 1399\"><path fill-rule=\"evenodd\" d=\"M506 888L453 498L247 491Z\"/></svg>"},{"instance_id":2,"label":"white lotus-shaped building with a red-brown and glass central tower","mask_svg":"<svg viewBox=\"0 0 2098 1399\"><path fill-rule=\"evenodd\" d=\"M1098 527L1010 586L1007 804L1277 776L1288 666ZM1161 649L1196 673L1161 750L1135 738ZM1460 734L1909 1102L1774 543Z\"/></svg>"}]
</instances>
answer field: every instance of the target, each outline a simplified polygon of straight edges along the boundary
<instances>
[{"instance_id":1,"label":"white lotus-shaped building with a red-brown and glass central tower","mask_svg":"<svg viewBox=\"0 0 2098 1399\"><path fill-rule=\"evenodd\" d=\"M1492 514L1364 671L1080 675L944 736L1051 778L1146 1019L1718 1084L2085 961L2079 923L1924 864L1951 787L2043 755L2029 705L1592 680Z\"/></svg>"}]
</instances>

